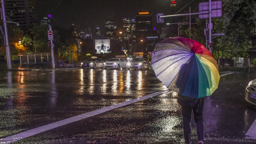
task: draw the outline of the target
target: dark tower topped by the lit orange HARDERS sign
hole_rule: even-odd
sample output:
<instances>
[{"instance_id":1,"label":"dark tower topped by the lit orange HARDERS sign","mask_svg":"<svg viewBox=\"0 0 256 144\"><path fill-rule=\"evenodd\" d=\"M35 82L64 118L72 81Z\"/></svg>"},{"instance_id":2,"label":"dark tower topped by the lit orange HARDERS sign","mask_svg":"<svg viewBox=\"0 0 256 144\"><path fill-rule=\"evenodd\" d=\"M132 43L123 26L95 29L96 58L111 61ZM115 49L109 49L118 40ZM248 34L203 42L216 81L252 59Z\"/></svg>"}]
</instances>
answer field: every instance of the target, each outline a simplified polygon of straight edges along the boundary
<instances>
[{"instance_id":1,"label":"dark tower topped by the lit orange HARDERS sign","mask_svg":"<svg viewBox=\"0 0 256 144\"><path fill-rule=\"evenodd\" d=\"M136 47L134 52L146 49L145 40L152 35L152 15L148 11L139 12L135 17Z\"/></svg>"}]
</instances>

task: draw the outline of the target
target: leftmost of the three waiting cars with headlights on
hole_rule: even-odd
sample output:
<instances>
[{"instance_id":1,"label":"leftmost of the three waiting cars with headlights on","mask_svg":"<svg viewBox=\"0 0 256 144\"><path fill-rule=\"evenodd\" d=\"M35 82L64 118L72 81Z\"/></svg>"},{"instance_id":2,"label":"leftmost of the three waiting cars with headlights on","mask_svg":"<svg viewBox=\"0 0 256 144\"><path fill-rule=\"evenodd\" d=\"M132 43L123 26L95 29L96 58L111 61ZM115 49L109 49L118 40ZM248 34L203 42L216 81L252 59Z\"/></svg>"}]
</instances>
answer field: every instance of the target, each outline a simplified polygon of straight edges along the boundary
<instances>
[{"instance_id":1,"label":"leftmost of the three waiting cars with headlights on","mask_svg":"<svg viewBox=\"0 0 256 144\"><path fill-rule=\"evenodd\" d=\"M90 59L87 59L86 61L83 61L81 63L81 66L84 68L104 68L104 61L102 59L99 59L97 57L91 57Z\"/></svg>"}]
</instances>

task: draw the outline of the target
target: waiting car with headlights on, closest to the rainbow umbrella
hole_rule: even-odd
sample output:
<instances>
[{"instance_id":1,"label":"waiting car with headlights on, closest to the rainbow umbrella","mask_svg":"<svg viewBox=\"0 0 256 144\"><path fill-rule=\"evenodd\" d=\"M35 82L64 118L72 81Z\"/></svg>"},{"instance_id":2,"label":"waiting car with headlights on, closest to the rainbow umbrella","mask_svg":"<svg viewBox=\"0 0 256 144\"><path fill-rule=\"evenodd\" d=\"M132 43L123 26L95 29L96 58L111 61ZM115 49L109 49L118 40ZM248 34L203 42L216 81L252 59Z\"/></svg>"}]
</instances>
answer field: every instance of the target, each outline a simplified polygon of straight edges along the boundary
<instances>
[{"instance_id":1,"label":"waiting car with headlights on, closest to the rainbow umbrella","mask_svg":"<svg viewBox=\"0 0 256 144\"><path fill-rule=\"evenodd\" d=\"M149 63L145 61L143 57L136 57L135 59L132 59L130 62L127 63L127 68L139 68L141 70L144 70L149 68Z\"/></svg>"}]
</instances>

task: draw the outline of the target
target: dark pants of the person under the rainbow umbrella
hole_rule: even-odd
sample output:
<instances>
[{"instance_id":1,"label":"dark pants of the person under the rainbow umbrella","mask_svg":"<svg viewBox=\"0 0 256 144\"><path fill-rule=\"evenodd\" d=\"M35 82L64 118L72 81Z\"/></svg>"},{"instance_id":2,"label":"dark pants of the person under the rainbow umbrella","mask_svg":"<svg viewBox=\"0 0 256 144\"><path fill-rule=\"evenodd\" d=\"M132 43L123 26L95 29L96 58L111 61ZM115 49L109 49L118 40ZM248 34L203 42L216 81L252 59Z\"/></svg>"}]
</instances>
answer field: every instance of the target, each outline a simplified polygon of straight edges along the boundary
<instances>
[{"instance_id":1,"label":"dark pants of the person under the rainbow umbrella","mask_svg":"<svg viewBox=\"0 0 256 144\"><path fill-rule=\"evenodd\" d=\"M193 110L194 119L197 124L198 141L204 141L204 98L198 100L178 100L182 107L183 130L186 144L191 142L191 111Z\"/></svg>"}]
</instances>

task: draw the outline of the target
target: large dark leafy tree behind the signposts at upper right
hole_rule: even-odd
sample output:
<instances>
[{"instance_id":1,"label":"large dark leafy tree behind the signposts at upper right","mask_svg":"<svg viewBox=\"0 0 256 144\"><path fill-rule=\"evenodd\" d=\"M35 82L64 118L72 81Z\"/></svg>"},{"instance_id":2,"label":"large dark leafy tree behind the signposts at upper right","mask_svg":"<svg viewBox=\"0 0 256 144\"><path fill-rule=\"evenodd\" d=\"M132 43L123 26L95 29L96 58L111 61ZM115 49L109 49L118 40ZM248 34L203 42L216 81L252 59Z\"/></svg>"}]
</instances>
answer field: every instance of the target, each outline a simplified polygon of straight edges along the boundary
<instances>
[{"instance_id":1,"label":"large dark leafy tree behind the signposts at upper right","mask_svg":"<svg viewBox=\"0 0 256 144\"><path fill-rule=\"evenodd\" d=\"M219 57L245 57L251 48L250 30L256 25L255 0L222 0L223 15L213 19L213 33L225 36L213 38L213 55Z\"/></svg>"}]
</instances>

